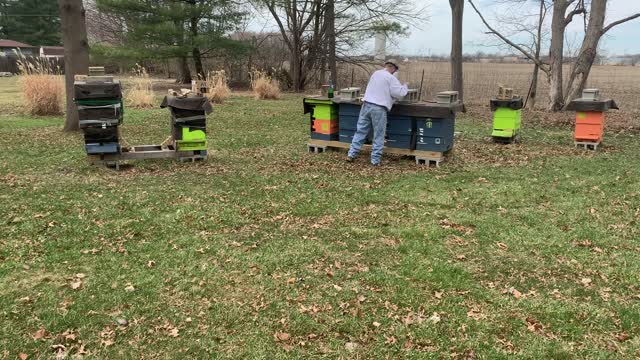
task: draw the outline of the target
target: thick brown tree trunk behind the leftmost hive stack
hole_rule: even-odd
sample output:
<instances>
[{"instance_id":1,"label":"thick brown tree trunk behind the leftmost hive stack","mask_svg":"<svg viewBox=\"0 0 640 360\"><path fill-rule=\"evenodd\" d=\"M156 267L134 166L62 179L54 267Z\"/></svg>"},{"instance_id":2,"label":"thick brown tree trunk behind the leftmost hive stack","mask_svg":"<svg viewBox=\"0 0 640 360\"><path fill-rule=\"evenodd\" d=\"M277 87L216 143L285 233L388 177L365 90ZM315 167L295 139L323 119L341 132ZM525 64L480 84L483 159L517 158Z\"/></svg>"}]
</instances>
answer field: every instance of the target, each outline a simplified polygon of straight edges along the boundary
<instances>
[{"instance_id":1,"label":"thick brown tree trunk behind the leftmost hive stack","mask_svg":"<svg viewBox=\"0 0 640 360\"><path fill-rule=\"evenodd\" d=\"M64 43L64 79L67 99L67 114L64 131L80 130L78 110L73 102L75 75L89 73L89 42L87 24L81 0L59 0Z\"/></svg>"}]
</instances>

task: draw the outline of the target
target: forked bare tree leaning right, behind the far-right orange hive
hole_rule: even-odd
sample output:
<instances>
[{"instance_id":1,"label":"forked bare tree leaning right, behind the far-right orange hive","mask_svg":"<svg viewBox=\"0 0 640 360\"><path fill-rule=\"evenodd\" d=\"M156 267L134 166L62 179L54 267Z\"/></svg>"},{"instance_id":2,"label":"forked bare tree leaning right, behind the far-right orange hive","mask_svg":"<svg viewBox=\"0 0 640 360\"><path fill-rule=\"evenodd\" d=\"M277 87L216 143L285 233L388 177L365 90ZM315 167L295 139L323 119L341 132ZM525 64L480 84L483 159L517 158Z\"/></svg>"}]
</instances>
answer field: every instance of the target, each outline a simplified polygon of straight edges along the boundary
<instances>
[{"instance_id":1,"label":"forked bare tree leaning right, behind the far-right orange hive","mask_svg":"<svg viewBox=\"0 0 640 360\"><path fill-rule=\"evenodd\" d=\"M598 43L607 31L613 27L623 24L627 21L640 18L640 13L627 16L623 19L614 21L609 25L604 25L605 16L607 13L607 0L591 0L591 8L589 11L589 22L587 24L587 31L582 41L582 47L576 58L576 62L569 76L569 82L567 84L565 104L569 101L578 98L585 87L591 67L598 55ZM565 105L566 107L566 105Z\"/></svg>"}]
</instances>

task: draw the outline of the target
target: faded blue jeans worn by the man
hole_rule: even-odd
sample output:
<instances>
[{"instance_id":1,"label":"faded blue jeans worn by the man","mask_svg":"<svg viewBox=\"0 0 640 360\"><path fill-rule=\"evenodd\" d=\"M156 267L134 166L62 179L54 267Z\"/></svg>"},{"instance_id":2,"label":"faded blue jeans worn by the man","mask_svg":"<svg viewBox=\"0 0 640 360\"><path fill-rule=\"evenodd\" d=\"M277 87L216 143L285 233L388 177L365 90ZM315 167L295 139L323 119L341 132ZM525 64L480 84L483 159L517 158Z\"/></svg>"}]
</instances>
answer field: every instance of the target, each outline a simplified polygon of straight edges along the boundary
<instances>
[{"instance_id":1,"label":"faded blue jeans worn by the man","mask_svg":"<svg viewBox=\"0 0 640 360\"><path fill-rule=\"evenodd\" d=\"M377 165L382 157L382 148L384 147L384 135L387 130L387 108L380 105L365 102L360 109L360 117L358 118L358 130L353 136L349 156L358 155L362 145L367 139L369 130L373 127L373 146L371 149L371 163Z\"/></svg>"}]
</instances>

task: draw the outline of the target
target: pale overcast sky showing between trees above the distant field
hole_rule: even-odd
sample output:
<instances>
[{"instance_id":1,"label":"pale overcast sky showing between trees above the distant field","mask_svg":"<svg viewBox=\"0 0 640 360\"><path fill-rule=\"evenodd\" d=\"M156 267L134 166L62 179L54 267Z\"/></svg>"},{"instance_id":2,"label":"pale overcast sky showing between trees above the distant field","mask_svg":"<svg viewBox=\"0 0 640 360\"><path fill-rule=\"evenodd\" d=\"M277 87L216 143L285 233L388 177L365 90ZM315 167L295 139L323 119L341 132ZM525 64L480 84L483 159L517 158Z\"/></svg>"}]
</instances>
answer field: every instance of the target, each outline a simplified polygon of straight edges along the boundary
<instances>
[{"instance_id":1,"label":"pale overcast sky showing between trees above the distant field","mask_svg":"<svg viewBox=\"0 0 640 360\"><path fill-rule=\"evenodd\" d=\"M411 29L408 38L398 39L394 50L410 55L449 54L451 42L451 9L449 0L416 0L420 4L428 4L430 21L421 29ZM496 24L495 14L503 9L492 0L474 1L487 20ZM607 7L607 24L631 14L640 12L640 0L609 0ZM489 35L484 34L486 28L473 8L465 2L463 42L465 53L483 51L499 52L501 49L487 47L495 43ZM584 33L582 18L575 18L570 25L567 39L578 39ZM602 45L609 55L640 53L640 18L611 29L603 38ZM503 52L503 51L500 51Z\"/></svg>"}]
</instances>

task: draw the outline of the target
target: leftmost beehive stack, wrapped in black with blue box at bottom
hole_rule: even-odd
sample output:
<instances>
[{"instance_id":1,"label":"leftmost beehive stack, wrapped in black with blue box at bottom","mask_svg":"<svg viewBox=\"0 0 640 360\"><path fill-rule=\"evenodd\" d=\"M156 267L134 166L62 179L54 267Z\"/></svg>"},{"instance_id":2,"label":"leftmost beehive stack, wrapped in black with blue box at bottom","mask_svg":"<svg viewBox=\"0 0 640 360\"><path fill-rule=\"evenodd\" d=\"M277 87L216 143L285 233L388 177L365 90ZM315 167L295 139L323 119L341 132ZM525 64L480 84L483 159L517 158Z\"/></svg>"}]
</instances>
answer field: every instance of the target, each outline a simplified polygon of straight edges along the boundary
<instances>
[{"instance_id":1,"label":"leftmost beehive stack, wrapped in black with blue box at bottom","mask_svg":"<svg viewBox=\"0 0 640 360\"><path fill-rule=\"evenodd\" d=\"M120 153L118 126L124 114L120 81L108 76L82 76L73 88L87 154Z\"/></svg>"}]
</instances>

